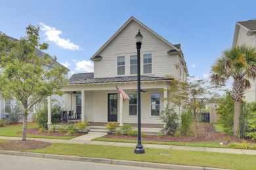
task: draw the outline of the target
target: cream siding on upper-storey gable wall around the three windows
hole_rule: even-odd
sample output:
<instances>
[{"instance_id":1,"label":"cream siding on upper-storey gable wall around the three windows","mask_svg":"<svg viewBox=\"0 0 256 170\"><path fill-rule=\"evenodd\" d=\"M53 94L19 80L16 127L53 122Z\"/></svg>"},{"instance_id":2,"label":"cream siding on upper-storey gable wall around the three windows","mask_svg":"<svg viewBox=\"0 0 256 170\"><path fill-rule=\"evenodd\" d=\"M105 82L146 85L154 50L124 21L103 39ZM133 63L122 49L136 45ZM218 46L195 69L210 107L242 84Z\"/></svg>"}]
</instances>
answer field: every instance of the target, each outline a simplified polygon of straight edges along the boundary
<instances>
[{"instance_id":1,"label":"cream siding on upper-storey gable wall around the three windows","mask_svg":"<svg viewBox=\"0 0 256 170\"><path fill-rule=\"evenodd\" d=\"M171 47L165 42L161 41L144 29L140 27L136 22L131 22L130 24L123 29L114 39L110 42L108 46L102 51L100 56L102 56L101 61L95 61L95 78L99 77L113 77L116 76L116 56L121 54L125 55L125 69L126 75L129 75L129 56L131 54L137 54L136 45L135 45L135 35L138 33L138 30L143 35L141 53L152 52L153 57L153 69L154 76L163 76L163 75L175 75L177 74L174 64L177 63L179 56L169 55L167 51L171 50ZM143 64L141 59L141 64ZM142 68L141 68L142 69ZM141 71L141 73L143 73Z\"/></svg>"}]
</instances>

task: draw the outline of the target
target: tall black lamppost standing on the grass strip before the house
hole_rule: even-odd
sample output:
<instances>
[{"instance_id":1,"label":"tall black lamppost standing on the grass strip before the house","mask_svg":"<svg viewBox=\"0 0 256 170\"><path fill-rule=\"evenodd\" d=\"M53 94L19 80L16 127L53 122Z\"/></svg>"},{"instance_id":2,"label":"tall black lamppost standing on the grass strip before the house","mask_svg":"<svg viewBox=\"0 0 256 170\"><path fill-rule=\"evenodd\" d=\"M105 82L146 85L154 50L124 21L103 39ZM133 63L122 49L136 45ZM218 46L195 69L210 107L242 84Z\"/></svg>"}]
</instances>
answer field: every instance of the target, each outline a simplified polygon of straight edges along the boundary
<instances>
[{"instance_id":1,"label":"tall black lamppost standing on the grass strip before the house","mask_svg":"<svg viewBox=\"0 0 256 170\"><path fill-rule=\"evenodd\" d=\"M143 148L143 145L141 144L141 127L140 127L140 48L142 44L142 35L140 34L140 30L138 34L135 36L136 39L136 46L137 46L137 103L138 103L138 143L136 145L136 148L134 150L135 154L144 154L145 150Z\"/></svg>"}]
</instances>

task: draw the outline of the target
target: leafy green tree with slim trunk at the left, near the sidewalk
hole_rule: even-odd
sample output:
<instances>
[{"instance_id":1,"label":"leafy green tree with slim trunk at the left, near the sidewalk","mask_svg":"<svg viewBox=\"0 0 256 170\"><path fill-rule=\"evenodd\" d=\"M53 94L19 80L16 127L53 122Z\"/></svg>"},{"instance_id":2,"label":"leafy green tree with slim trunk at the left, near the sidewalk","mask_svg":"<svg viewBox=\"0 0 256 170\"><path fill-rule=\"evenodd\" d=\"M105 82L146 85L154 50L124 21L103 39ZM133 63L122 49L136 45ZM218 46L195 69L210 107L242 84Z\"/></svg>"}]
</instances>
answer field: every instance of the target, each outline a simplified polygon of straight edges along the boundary
<instances>
[{"instance_id":1,"label":"leafy green tree with slim trunk at the left, near the sidewalk","mask_svg":"<svg viewBox=\"0 0 256 170\"><path fill-rule=\"evenodd\" d=\"M5 98L15 97L24 107L22 141L26 141L28 110L48 95L61 95L67 82L68 71L56 58L38 56L48 48L39 43L39 30L29 25L20 41L0 33L0 89Z\"/></svg>"}]
</instances>

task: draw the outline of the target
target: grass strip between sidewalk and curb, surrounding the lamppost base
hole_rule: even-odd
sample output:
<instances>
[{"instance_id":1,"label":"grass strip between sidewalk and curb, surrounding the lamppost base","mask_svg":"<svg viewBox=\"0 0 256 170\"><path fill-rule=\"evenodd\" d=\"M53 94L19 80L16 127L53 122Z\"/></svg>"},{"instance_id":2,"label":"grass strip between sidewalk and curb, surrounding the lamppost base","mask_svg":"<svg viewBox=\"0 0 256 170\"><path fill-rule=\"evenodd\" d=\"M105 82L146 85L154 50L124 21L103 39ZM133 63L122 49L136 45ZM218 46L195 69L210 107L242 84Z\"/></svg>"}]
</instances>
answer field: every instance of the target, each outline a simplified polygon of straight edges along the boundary
<instances>
[{"instance_id":1,"label":"grass strip between sidewalk and curb, surrounding the lamppost base","mask_svg":"<svg viewBox=\"0 0 256 170\"><path fill-rule=\"evenodd\" d=\"M54 143L47 148L26 150L26 152L108 158L114 160L148 161L226 169L256 169L256 156L254 155L221 154L214 152L156 148L145 148L145 154L134 154L134 149L135 148L121 146ZM171 154L171 156L160 155L160 153Z\"/></svg>"}]
</instances>

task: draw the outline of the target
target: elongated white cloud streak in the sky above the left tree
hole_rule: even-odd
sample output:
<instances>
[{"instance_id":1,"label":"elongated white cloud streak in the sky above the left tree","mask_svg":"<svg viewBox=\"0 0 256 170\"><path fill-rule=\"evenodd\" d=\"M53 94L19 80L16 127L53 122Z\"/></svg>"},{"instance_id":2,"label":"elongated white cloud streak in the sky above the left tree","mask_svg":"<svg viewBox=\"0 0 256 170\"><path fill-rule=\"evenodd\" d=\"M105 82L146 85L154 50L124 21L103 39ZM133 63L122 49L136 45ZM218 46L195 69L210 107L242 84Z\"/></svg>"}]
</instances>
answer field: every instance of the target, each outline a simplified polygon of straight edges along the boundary
<instances>
[{"instance_id":1,"label":"elongated white cloud streak in the sky above the left tree","mask_svg":"<svg viewBox=\"0 0 256 170\"><path fill-rule=\"evenodd\" d=\"M41 30L45 31L47 41L54 42L60 48L64 48L67 50L81 50L81 47L75 45L73 42L70 42L70 39L60 38L60 34L62 33L62 31L57 30L55 27L47 26L41 22L39 24L41 25Z\"/></svg>"}]
</instances>

